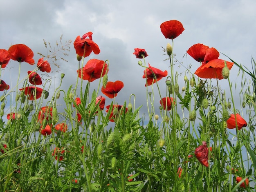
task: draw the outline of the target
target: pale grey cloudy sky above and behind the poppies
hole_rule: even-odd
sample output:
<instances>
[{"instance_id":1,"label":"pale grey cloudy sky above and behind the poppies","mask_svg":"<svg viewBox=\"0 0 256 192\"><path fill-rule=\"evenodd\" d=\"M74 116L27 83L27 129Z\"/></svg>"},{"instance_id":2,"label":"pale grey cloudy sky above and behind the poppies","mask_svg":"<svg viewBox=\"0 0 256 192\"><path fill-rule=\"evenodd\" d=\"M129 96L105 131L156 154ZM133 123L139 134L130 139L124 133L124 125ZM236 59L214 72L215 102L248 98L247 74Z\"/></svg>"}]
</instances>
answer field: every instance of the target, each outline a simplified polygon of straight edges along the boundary
<instances>
[{"instance_id":1,"label":"pale grey cloudy sky above and behind the poppies","mask_svg":"<svg viewBox=\"0 0 256 192\"><path fill-rule=\"evenodd\" d=\"M160 31L160 24L167 20L179 20L185 30L174 39L173 52L175 58L184 65L175 70L186 71L191 64L191 72L199 67L186 50L196 43L215 47L237 63L250 67L251 58L256 58L256 1L255 0L0 0L0 49L9 49L10 45L25 44L34 51L37 63L40 56L37 52L47 55L43 39L54 47L56 40L63 35L63 43L72 40L69 56L58 61L60 69L52 65L52 73L56 87L59 83L59 70L65 73L63 86L74 85L78 62L73 42L76 36L82 36L88 31L93 32L93 40L101 53L91 54L91 58L109 60L110 81L121 80L124 88L119 92L116 101L122 105L129 100L130 94L136 95L136 105L146 107L145 79L142 79L144 69L137 65L139 59L132 54L134 48L146 49L146 62L161 70L170 71L167 57L162 47L171 40L165 39ZM61 53L59 54L60 56ZM220 58L228 60L225 56ZM22 63L22 75L34 66ZM237 67L231 69L236 80ZM1 78L9 85L16 81L18 63L11 61L2 71ZM40 72L38 72L40 73ZM54 78L56 77L56 78ZM183 86L183 76L180 77ZM224 80L225 81L225 80ZM97 80L91 86L97 88ZM220 83L222 84L222 83ZM165 80L159 81L163 95ZM223 83L225 86L225 83ZM157 87L155 103L159 106ZM109 105L111 100L107 100ZM143 112L146 112L143 109Z\"/></svg>"}]
</instances>

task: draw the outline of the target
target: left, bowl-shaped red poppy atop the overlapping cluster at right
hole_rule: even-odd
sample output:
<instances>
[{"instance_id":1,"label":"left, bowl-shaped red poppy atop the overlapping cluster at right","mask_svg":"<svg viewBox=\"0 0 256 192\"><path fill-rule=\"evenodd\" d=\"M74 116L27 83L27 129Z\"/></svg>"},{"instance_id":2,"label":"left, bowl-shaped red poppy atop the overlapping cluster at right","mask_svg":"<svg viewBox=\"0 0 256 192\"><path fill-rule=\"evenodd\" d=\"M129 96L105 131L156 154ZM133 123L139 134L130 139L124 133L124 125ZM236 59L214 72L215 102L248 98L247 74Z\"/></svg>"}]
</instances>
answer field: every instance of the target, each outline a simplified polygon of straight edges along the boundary
<instances>
[{"instance_id":1,"label":"left, bowl-shaped red poppy atop the overlapping cluster at right","mask_svg":"<svg viewBox=\"0 0 256 192\"><path fill-rule=\"evenodd\" d=\"M203 45L201 43L192 45L189 50L186 52L193 57L196 61L202 62L204 60L204 56L206 54L206 50L209 49L208 46Z\"/></svg>"}]
</instances>

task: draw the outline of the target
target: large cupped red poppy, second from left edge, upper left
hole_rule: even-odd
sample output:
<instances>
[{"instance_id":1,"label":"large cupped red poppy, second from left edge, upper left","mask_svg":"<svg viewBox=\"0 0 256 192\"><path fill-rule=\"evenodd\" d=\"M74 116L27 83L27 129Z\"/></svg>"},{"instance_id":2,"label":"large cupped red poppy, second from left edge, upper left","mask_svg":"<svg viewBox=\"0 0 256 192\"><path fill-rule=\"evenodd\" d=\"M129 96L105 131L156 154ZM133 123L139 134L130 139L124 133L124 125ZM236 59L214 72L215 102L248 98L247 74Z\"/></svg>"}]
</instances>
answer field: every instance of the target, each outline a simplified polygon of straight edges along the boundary
<instances>
[{"instance_id":1,"label":"large cupped red poppy, second from left edge, upper left","mask_svg":"<svg viewBox=\"0 0 256 192\"><path fill-rule=\"evenodd\" d=\"M23 44L12 45L9 48L8 52L12 60L16 60L18 62L25 61L30 65L35 64L35 60L33 59L34 53L29 47L27 47L27 45L23 45Z\"/></svg>"}]
</instances>

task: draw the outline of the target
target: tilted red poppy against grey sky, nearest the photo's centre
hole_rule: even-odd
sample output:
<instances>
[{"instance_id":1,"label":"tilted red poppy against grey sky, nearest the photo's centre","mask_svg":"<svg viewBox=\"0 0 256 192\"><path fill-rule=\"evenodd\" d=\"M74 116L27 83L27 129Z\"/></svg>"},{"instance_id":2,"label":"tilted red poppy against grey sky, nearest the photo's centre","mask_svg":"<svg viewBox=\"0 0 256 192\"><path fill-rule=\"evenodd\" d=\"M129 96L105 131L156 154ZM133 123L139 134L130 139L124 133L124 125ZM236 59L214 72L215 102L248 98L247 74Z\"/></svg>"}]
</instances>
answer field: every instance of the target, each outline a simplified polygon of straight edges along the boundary
<instances>
[{"instance_id":1,"label":"tilted red poppy against grey sky, nearest the photo's centre","mask_svg":"<svg viewBox=\"0 0 256 192\"><path fill-rule=\"evenodd\" d=\"M109 81L106 85L106 88L102 86L101 92L108 96L108 98L114 98L117 96L117 93L124 87L124 83L120 80L115 82Z\"/></svg>"}]
</instances>

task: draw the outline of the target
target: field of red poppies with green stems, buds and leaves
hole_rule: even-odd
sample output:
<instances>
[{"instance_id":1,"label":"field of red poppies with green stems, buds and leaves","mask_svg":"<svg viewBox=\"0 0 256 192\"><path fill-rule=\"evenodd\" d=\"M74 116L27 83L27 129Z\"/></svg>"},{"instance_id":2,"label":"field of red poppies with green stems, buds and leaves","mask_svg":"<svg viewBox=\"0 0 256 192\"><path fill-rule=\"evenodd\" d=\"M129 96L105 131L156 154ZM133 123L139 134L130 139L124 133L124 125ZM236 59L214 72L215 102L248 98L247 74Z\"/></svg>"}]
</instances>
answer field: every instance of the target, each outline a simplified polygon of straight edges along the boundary
<instances>
[{"instance_id":1,"label":"field of red poppies with green stems, buds and leaves","mask_svg":"<svg viewBox=\"0 0 256 192\"><path fill-rule=\"evenodd\" d=\"M58 53L34 55L24 44L0 49L0 191L255 191L256 63L248 69L198 43L186 48L198 69L177 72L175 40L184 30L177 20L160 24L165 70L148 63L146 47L134 49L145 79L136 86L146 87L140 107L132 90L129 100L115 101L126 85L108 80L108 60L88 59L104 49L92 32L61 48L77 54L77 77L65 89L65 74L55 74L55 86L45 79ZM16 85L3 73L10 61L19 66ZM20 74L22 65L34 69ZM239 90L230 80L234 67Z\"/></svg>"}]
</instances>

